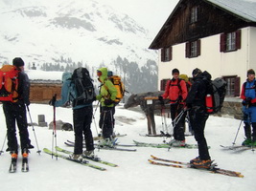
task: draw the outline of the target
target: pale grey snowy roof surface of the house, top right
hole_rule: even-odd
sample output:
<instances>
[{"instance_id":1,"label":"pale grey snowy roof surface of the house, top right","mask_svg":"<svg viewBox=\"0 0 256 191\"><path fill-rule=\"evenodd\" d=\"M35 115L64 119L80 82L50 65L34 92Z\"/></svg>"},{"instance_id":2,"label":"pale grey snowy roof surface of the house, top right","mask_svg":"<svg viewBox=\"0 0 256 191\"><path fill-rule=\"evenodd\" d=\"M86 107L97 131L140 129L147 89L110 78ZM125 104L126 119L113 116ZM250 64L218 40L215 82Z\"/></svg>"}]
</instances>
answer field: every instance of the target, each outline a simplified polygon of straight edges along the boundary
<instances>
[{"instance_id":1,"label":"pale grey snowy roof surface of the house, top right","mask_svg":"<svg viewBox=\"0 0 256 191\"><path fill-rule=\"evenodd\" d=\"M207 0L227 11L256 22L256 0Z\"/></svg>"}]
</instances>

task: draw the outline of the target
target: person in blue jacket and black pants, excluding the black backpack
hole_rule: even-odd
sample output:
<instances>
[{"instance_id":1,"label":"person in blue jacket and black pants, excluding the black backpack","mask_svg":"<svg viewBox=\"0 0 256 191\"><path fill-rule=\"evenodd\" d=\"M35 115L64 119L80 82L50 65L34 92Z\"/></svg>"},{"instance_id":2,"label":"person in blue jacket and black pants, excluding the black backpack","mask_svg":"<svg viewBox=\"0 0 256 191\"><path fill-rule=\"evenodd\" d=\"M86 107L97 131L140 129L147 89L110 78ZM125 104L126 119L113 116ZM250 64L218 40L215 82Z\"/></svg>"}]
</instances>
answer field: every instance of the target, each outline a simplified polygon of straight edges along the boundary
<instances>
[{"instance_id":1,"label":"person in blue jacket and black pants, excluding the black backpack","mask_svg":"<svg viewBox=\"0 0 256 191\"><path fill-rule=\"evenodd\" d=\"M81 159L81 155L88 157L94 157L94 141L91 132L91 122L92 122L92 103L84 103L79 105L74 105L74 99L76 97L75 84L73 83L74 75L79 70L86 70L85 68L78 68L71 73L62 74L62 87L61 87L61 98L58 100L50 100L50 105L67 106L72 104L73 109L73 124L75 132L75 147L74 154L72 155L73 159ZM89 72L86 70L86 73ZM96 97L93 98L96 100ZM86 150L82 152L82 142L83 137L85 140Z\"/></svg>"}]
</instances>

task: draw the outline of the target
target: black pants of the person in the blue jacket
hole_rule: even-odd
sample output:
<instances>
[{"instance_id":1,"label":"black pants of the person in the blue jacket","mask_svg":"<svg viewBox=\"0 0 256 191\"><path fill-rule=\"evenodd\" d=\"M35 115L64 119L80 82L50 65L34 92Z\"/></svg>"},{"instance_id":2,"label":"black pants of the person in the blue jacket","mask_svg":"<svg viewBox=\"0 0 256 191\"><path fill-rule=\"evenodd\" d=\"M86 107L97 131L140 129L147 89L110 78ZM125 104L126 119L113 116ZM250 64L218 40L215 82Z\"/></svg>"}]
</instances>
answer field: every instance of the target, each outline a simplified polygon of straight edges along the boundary
<instances>
[{"instance_id":1,"label":"black pants of the person in the blue jacket","mask_svg":"<svg viewBox=\"0 0 256 191\"><path fill-rule=\"evenodd\" d=\"M86 106L73 110L73 123L75 132L74 154L82 154L82 141L85 140L87 151L94 150L93 137L91 132L92 106Z\"/></svg>"}]
</instances>

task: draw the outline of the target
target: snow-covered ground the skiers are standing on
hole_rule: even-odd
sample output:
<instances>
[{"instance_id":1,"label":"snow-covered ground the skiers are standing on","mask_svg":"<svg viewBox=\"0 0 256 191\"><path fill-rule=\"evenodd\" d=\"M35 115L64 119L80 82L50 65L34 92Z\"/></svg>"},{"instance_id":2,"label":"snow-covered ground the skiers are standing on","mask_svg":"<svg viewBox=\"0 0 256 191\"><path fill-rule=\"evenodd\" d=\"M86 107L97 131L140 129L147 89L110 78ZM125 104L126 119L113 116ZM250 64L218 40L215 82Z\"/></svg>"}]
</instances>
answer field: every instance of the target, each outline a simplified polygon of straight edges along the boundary
<instances>
[{"instance_id":1,"label":"snow-covered ground the skiers are standing on","mask_svg":"<svg viewBox=\"0 0 256 191\"><path fill-rule=\"evenodd\" d=\"M48 124L53 120L53 108L48 105L31 104L31 115L37 123L37 115L45 115ZM95 111L95 110L94 110ZM6 136L5 117L0 105L0 116L2 125L0 128L0 147L2 148ZM116 110L115 132L127 134L127 137L119 138L120 143L131 144L132 139L161 143L163 138L142 137L147 133L147 120L141 113L126 110L118 106ZM29 116L28 119L30 120ZM72 109L57 108L57 119L72 123ZM96 111L95 120L97 131L99 130L99 109ZM155 117L157 132L162 130L161 117ZM167 119L170 124L170 119ZM93 168L82 166L65 159L52 159L51 156L36 153L35 135L38 140L39 149L44 147L52 148L53 130L48 127L35 126L35 135L32 127L29 127L30 137L35 149L29 157L30 172L20 171L20 162L17 172L8 172L10 155L5 152L0 156L0 180L3 191L78 191L78 190L105 190L105 191L151 191L151 190L190 190L190 191L244 191L255 190L256 155L247 150L244 152L233 152L222 150L220 144L231 145L236 136L240 120L228 117L209 117L205 135L208 144L211 146L210 154L212 159L218 162L219 167L242 172L244 178L233 178L223 175L211 174L196 169L177 169L151 165L148 162L151 154L181 161L189 161L198 156L197 149L167 149L136 147L136 152L122 152L109 150L96 150L101 158L119 164L119 167L109 167L106 171L99 171ZM91 129L94 136L97 136L96 125L93 122ZM73 132L57 131L57 144L60 147L72 151L66 147L64 141L74 139ZM237 138L237 144L244 140L243 126ZM195 138L187 137L188 143L196 143ZM4 150L7 145L4 145ZM20 161L20 160L19 160Z\"/></svg>"}]
</instances>

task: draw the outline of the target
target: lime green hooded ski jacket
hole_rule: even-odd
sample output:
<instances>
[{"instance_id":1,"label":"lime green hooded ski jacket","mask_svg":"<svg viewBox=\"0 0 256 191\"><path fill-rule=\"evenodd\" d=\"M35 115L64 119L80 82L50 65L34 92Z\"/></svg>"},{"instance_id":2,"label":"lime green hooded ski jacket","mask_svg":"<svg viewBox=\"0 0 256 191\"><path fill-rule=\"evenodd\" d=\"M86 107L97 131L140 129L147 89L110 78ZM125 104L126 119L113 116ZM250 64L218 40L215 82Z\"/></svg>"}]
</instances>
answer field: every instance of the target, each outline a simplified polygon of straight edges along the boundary
<instances>
[{"instance_id":1,"label":"lime green hooded ski jacket","mask_svg":"<svg viewBox=\"0 0 256 191\"><path fill-rule=\"evenodd\" d=\"M104 101L105 99L111 99L113 101L112 104L107 105L106 107L113 107L114 106L114 100L117 96L117 90L113 83L108 79L107 77L107 69L101 68L99 71L102 72L102 75L99 76L99 81L102 83L100 88L100 93L98 96L96 96L97 100L100 100L101 105L104 107L106 106Z\"/></svg>"}]
</instances>

